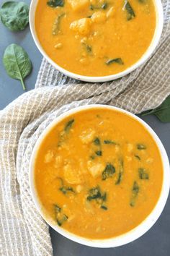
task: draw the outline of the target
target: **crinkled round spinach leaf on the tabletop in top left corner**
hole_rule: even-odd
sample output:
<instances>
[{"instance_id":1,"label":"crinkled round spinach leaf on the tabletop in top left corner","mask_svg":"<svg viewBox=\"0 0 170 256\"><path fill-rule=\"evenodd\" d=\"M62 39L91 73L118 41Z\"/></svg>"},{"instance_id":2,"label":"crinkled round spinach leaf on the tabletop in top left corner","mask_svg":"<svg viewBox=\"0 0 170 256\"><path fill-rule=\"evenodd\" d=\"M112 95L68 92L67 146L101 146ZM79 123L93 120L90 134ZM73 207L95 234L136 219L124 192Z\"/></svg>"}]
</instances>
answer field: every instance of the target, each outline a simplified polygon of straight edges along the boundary
<instances>
[{"instance_id":1,"label":"crinkled round spinach leaf on the tabletop in top left corner","mask_svg":"<svg viewBox=\"0 0 170 256\"><path fill-rule=\"evenodd\" d=\"M29 22L29 7L22 1L6 1L1 6L0 17L9 30L24 30Z\"/></svg>"}]
</instances>

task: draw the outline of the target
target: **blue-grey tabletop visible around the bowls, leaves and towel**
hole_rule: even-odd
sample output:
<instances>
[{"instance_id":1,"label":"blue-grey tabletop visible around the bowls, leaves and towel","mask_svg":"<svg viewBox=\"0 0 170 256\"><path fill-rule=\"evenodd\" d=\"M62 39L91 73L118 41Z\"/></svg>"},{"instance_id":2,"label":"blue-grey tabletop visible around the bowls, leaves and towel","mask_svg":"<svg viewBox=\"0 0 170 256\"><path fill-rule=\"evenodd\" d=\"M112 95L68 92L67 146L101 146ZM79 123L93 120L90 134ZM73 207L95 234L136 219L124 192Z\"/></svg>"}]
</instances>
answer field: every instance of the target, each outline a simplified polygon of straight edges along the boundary
<instances>
[{"instance_id":1,"label":"blue-grey tabletop visible around the bowls, leaves and towel","mask_svg":"<svg viewBox=\"0 0 170 256\"><path fill-rule=\"evenodd\" d=\"M0 4L3 1L0 0ZM30 1L26 1L30 3ZM18 43L24 49L32 60L32 73L25 80L27 90L35 88L37 72L40 68L42 56L37 50L32 40L30 29L20 33L12 33L0 24L0 110L23 92L19 81L12 80L7 76L3 64L2 56L4 49L11 43ZM155 116L146 116L143 118L157 133L163 142L168 155L170 155L170 124L163 124ZM79 223L77 223L79 225ZM110 223L114 225L114 223ZM161 217L153 228L135 242L128 245L111 248L97 249L86 247L64 238L57 232L50 229L50 235L53 243L54 255L58 256L169 256L170 255L170 197L166 202ZM5 255L4 255L5 256ZM24 255L23 255L24 256Z\"/></svg>"}]
</instances>

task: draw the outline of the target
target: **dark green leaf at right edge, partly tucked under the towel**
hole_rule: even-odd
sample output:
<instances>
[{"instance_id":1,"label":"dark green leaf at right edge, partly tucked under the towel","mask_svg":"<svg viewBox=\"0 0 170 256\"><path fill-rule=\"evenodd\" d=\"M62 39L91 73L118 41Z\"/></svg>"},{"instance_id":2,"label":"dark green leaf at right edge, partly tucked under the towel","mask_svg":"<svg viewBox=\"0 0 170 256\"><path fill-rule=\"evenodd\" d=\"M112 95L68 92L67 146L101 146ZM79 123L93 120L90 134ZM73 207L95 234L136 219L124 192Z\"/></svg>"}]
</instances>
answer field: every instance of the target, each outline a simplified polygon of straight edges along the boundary
<instances>
[{"instance_id":1,"label":"dark green leaf at right edge, partly tucked under the towel","mask_svg":"<svg viewBox=\"0 0 170 256\"><path fill-rule=\"evenodd\" d=\"M142 113L142 116L147 115L156 115L158 119L164 123L170 122L170 95L166 98L166 100L161 103L160 106L154 108L152 110L148 110Z\"/></svg>"}]
</instances>

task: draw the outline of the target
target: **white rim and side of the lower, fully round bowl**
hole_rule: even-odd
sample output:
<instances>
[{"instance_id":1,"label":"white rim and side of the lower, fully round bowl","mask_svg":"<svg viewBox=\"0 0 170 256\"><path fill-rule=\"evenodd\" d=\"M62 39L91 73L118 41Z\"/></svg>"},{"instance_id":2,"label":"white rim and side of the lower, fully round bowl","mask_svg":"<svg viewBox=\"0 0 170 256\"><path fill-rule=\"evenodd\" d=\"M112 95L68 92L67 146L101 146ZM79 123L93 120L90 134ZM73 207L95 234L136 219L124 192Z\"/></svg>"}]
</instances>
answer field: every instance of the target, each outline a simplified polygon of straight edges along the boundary
<instances>
[{"instance_id":1,"label":"white rim and side of the lower, fully round bowl","mask_svg":"<svg viewBox=\"0 0 170 256\"><path fill-rule=\"evenodd\" d=\"M148 217L140 223L138 226L135 227L135 229L132 229L131 231L128 231L125 234L122 234L120 236L115 236L110 239L87 239L81 236L77 236L75 234L72 234L71 232L66 231L65 229L62 229L60 226L54 223L54 221L50 218L48 218L45 213L42 210L42 206L40 201L38 200L37 192L35 189L35 180L34 180L34 165L35 165L35 158L37 155L37 150L40 147L40 144L42 140L44 139L45 135L50 132L50 129L52 129L55 124L58 124L59 121L66 118L66 116L69 116L71 114L75 114L79 111L84 111L89 108L106 108L111 110L120 111L121 113L127 114L128 116L132 117L133 119L137 120L140 124L143 125L147 129L147 131L151 134L153 137L153 140L155 140L156 145L158 146L158 149L161 154L161 159L163 163L163 169L164 169L164 177L163 177L163 184L161 189L161 195L158 199L158 202L155 205L155 208L153 208L152 212L148 215ZM170 187L170 171L169 171L169 158L166 155L166 150L164 149L164 146L161 143L161 140L159 140L158 136L155 132L153 132L153 129L146 124L145 121L138 118L138 116L135 116L134 114L131 114L128 111L122 110L121 108L116 108L113 106L107 106L107 105L89 105L89 106L81 106L78 108L73 108L70 111L66 111L66 113L61 114L61 116L58 116L54 121L52 121L48 127L42 132L42 135L38 138L35 148L32 151L32 157L30 161L30 189L32 198L35 202L37 210L40 212L40 215L42 218L45 219L45 221L53 228L55 231L58 231L58 233L62 234L63 236L66 236L68 239L73 240L74 242L78 242L80 244L85 244L87 246L91 247L117 247L123 244L128 244L129 242L134 241L135 239L138 239L138 237L142 236L146 233L149 229L151 229L151 226L157 221L158 217L161 215L162 210L164 209L164 206L166 204L167 197L169 195L169 187Z\"/></svg>"}]
</instances>

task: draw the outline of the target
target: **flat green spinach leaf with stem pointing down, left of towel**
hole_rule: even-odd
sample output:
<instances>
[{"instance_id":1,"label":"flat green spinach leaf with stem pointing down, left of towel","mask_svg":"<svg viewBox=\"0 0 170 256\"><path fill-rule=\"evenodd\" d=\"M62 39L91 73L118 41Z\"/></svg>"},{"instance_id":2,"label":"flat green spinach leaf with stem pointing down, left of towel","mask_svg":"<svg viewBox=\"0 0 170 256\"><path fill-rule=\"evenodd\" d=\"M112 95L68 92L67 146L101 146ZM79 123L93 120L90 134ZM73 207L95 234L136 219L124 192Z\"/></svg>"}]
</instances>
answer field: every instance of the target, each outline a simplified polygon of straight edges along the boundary
<instances>
[{"instance_id":1,"label":"flat green spinach leaf with stem pointing down, left of towel","mask_svg":"<svg viewBox=\"0 0 170 256\"><path fill-rule=\"evenodd\" d=\"M20 80L25 90L24 77L32 71L32 63L26 51L21 46L12 43L4 51L3 63L9 77Z\"/></svg>"}]
</instances>

